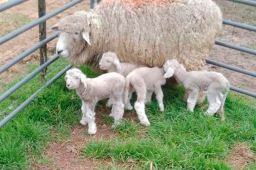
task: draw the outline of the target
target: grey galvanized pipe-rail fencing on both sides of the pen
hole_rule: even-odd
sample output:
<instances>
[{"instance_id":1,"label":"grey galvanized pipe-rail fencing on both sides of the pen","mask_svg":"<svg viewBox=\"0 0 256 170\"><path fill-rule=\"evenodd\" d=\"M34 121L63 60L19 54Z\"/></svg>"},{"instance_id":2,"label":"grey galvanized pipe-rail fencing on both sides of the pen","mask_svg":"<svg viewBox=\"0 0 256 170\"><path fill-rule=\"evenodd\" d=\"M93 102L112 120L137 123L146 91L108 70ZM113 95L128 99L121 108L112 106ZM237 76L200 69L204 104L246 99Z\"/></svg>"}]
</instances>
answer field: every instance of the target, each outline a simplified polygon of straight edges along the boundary
<instances>
[{"instance_id":1,"label":"grey galvanized pipe-rail fencing on both sides of the pen","mask_svg":"<svg viewBox=\"0 0 256 170\"><path fill-rule=\"evenodd\" d=\"M14 0L14 1L10 1L7 2L3 5L0 6L0 12L16 6L18 4L21 4L25 1L28 0ZM22 34L25 31L28 31L29 29L31 29L32 27L39 25L43 22L45 22L46 20L56 16L58 13L82 2L83 0L74 0L66 5L61 6L60 8L49 12L48 14L44 15L43 17L40 17L39 19L32 21L22 27L20 27L19 29L17 29L16 31L9 33L3 37L0 38L0 45L6 43L8 40ZM242 3L242 4L246 4L246 5L251 5L251 6L256 6L256 2L254 1L248 1L248 0L226 0L226 1L232 1L232 2L237 2L237 3ZM100 0L97 0L97 3L99 3ZM91 8L93 8L95 3L95 0L91 0ZM247 24L242 24L242 23L238 23L235 21L230 21L230 20L223 20L223 24L227 24L227 25L232 25L235 27L239 27L241 29L245 29L245 30L249 30L249 31L254 31L256 32L256 27L255 26L251 26L251 25L247 25ZM32 52L34 52L37 49L40 49L42 47L44 47L47 43L49 43L49 41L52 41L53 39L55 39L58 36L59 32L56 32L52 35L50 35L48 38L45 38L43 40L41 40L39 43L37 43L36 45L34 45L33 47L29 48L28 50L22 52L21 54L19 54L18 56L16 56L16 58L12 59L11 61L9 61L7 64L3 65L2 67L0 67L0 74L2 74L3 72L5 72L8 68L10 68L11 66L15 65L16 63L18 63L19 61L21 61L22 59L24 59L26 56L28 56L29 54L31 54ZM230 44L230 43L226 43L220 40L216 40L215 41L216 45L220 45L223 47L227 47L227 48L231 48L231 49L235 49L238 51L242 51L242 52L247 52L250 54L254 54L256 55L256 50L250 49L250 48L246 48L246 47L241 47L241 46L237 46L234 44ZM39 66L38 68L36 68L32 73L30 73L29 75L27 75L25 78L23 78L21 81L19 81L17 84L15 84L15 86L11 87L9 90L7 90L6 92L4 92L1 96L0 96L0 103L3 102L9 95L11 95L12 93L14 93L16 90L18 90L20 87L22 87L25 83L27 83L28 81L30 81L32 78L34 78L37 74L39 74L40 72L42 72L42 70L44 70L47 66L49 66L50 64L52 64L53 62L55 62L57 59L59 58L59 56L56 54L53 56L52 59L48 60L47 62L43 63L41 66ZM242 68L238 68L238 67L234 67L228 64L224 64L224 63L220 63L220 62L216 62L216 61L212 61L212 60L206 60L206 62L208 64L212 64L212 65L216 65L219 67L223 67L226 69L230 69L233 70L235 72L238 73L242 73L242 74L246 74L252 77L256 77L256 73L251 72L249 70L246 69L242 69ZM48 82L45 83L44 86L42 86L39 90L37 90L35 93L33 93L25 102L23 102L19 107L17 107L14 111L12 111L7 117L5 117L1 122L0 122L0 129L6 124L8 123L12 118L14 118L16 115L19 114L19 112L24 109L29 103L31 103L34 98L37 96L37 94L39 94L40 91L42 91L43 89L47 88L50 86L50 84L52 84L53 82L55 82L61 75L63 75L68 69L70 69L72 67L72 65L68 65L67 67L65 67L64 69L62 69L57 75L55 75L52 79L50 79ZM231 90L236 91L238 93L242 93L242 94L246 94L252 97L256 98L256 93L247 91L247 90L243 90L234 86L231 86Z\"/></svg>"}]
</instances>

